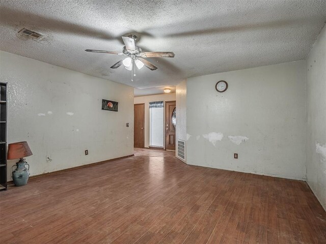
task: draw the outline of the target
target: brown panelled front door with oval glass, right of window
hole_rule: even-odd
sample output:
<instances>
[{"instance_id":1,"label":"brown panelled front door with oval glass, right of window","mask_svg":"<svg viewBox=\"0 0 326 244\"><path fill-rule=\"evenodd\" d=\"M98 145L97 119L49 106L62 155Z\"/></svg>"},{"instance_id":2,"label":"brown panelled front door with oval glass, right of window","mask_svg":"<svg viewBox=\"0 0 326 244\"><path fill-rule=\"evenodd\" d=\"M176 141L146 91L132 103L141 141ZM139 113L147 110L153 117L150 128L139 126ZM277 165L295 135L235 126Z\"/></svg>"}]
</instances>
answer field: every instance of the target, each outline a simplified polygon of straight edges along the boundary
<instances>
[{"instance_id":1,"label":"brown panelled front door with oval glass, right of window","mask_svg":"<svg viewBox=\"0 0 326 244\"><path fill-rule=\"evenodd\" d=\"M165 149L175 150L175 127L172 124L172 114L175 101L165 102Z\"/></svg>"}]
</instances>

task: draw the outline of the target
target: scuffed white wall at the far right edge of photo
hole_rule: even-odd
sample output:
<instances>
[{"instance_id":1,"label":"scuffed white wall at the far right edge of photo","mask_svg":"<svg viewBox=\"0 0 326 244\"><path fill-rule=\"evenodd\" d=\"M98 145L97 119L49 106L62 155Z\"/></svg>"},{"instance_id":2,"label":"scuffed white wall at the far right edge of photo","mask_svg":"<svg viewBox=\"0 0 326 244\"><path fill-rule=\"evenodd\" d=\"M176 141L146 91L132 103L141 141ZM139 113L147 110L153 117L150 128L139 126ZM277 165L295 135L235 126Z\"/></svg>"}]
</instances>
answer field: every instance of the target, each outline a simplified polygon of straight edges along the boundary
<instances>
[{"instance_id":1,"label":"scuffed white wall at the far right edge of photo","mask_svg":"<svg viewBox=\"0 0 326 244\"><path fill-rule=\"evenodd\" d=\"M307 181L326 210L326 27L307 58Z\"/></svg>"}]
</instances>

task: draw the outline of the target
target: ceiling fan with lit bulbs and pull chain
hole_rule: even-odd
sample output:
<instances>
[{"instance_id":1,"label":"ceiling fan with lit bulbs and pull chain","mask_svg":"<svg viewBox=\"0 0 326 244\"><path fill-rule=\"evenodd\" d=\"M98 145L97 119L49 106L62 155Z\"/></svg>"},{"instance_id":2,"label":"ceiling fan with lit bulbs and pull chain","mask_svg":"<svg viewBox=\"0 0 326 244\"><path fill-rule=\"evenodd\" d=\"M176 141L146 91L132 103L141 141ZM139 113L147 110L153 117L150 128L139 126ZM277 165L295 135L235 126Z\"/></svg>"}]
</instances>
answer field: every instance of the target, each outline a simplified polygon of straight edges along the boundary
<instances>
[{"instance_id":1,"label":"ceiling fan with lit bulbs and pull chain","mask_svg":"<svg viewBox=\"0 0 326 244\"><path fill-rule=\"evenodd\" d=\"M152 63L148 62L145 59L145 57L174 57L173 52L142 52L142 49L140 47L135 46L135 41L137 40L137 36L135 35L129 35L127 37L123 36L122 40L125 45L123 47L122 52L93 50L93 49L86 49L85 51L125 55L127 56L126 58L121 59L119 62L117 62L110 68L117 69L123 64L125 68L130 71L134 70L135 66L137 66L138 69L142 69L144 66L146 66L150 70L156 70L157 67Z\"/></svg>"}]
</instances>

